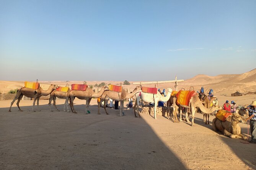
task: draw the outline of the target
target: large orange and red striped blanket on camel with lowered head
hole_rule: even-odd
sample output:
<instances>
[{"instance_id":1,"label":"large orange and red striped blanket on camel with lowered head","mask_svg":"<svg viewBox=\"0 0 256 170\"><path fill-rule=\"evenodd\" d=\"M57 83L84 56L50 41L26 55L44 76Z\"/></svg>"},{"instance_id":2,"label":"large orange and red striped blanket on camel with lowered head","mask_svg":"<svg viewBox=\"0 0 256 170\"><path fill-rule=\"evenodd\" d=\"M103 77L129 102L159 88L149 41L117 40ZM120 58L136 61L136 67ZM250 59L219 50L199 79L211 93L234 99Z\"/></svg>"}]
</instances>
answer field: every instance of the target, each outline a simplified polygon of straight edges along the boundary
<instances>
[{"instance_id":1,"label":"large orange and red striped blanket on camel with lowered head","mask_svg":"<svg viewBox=\"0 0 256 170\"><path fill-rule=\"evenodd\" d=\"M179 90L177 93L177 103L188 106L190 99L196 95L195 91Z\"/></svg>"}]
</instances>

